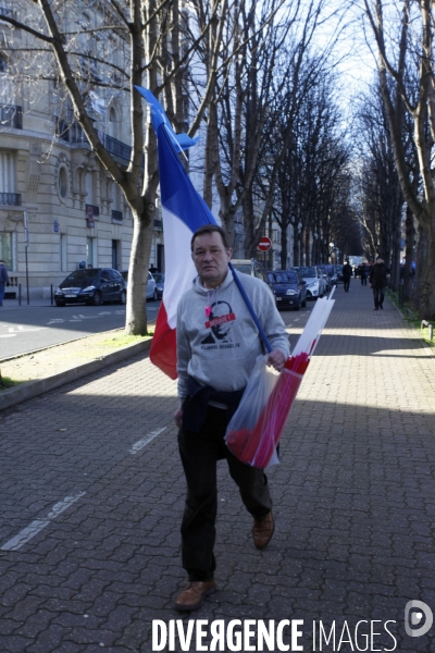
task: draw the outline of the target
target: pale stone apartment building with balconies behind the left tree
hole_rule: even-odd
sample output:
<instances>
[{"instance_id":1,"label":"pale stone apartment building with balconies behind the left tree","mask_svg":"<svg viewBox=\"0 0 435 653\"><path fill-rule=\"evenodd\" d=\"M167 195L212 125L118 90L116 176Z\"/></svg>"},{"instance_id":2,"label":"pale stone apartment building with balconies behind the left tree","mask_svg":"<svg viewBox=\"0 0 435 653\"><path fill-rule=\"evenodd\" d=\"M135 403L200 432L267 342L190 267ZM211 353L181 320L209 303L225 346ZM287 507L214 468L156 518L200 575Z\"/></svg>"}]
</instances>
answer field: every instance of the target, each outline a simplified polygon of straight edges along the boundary
<instances>
[{"instance_id":1,"label":"pale stone apartment building with balconies behind the left tree","mask_svg":"<svg viewBox=\"0 0 435 653\"><path fill-rule=\"evenodd\" d=\"M0 12L14 16L20 4L0 0ZM25 7L29 11L29 4ZM94 3L92 12L87 12L78 2L73 15L64 15L65 32L85 32L77 37L78 51L92 51L92 26L108 21L103 11L104 3ZM48 71L53 69L49 56L28 54L34 67L30 83L21 71L23 52L35 47L34 37L4 22L0 33L0 258L13 283L9 291L25 286L27 260L30 297L49 297L50 286L79 267L128 269L133 220L122 192L75 122L55 73L37 74L36 67L41 72L45 62ZM98 39L100 50L117 67L125 65L122 35L108 30ZM116 73L86 58L82 64L87 66L88 113L105 148L117 163L127 165L129 97L110 85L98 86L103 75ZM157 220L150 264L161 269L162 261L163 234Z\"/></svg>"}]
</instances>

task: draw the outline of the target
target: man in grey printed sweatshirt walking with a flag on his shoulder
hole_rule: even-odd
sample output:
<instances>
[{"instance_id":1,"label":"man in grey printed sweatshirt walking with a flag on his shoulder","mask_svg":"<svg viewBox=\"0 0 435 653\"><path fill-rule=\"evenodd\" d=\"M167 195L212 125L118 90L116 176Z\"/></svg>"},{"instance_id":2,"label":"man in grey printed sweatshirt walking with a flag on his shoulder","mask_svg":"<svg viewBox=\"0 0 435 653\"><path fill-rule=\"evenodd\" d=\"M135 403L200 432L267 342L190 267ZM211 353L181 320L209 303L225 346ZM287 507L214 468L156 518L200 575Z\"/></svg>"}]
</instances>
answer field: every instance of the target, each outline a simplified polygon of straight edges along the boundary
<instances>
[{"instance_id":1,"label":"man in grey printed sweatshirt walking with a flag on his shoulder","mask_svg":"<svg viewBox=\"0 0 435 653\"><path fill-rule=\"evenodd\" d=\"M198 276L177 309L177 369L181 407L178 448L187 481L182 522L183 567L187 588L175 602L192 611L215 591L214 540L217 513L216 463L225 458L241 501L253 517L253 543L265 549L273 531L272 500L262 469L240 463L224 435L237 409L262 343L228 268L232 250L220 226L201 226L191 239ZM282 370L289 354L285 324L269 287L240 274L273 350L268 362Z\"/></svg>"}]
</instances>

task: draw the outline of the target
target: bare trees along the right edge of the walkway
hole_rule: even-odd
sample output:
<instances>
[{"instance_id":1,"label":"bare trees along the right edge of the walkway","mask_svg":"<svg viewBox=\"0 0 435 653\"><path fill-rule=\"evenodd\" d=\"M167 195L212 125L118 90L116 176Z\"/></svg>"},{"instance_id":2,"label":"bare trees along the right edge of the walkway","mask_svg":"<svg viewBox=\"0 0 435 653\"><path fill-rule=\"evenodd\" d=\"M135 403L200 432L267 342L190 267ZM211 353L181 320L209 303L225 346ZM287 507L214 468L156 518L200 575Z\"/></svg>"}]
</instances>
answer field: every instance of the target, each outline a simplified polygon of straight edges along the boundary
<instances>
[{"instance_id":1,"label":"bare trees along the right edge of the walkway","mask_svg":"<svg viewBox=\"0 0 435 653\"><path fill-rule=\"evenodd\" d=\"M363 0L378 62L376 87L365 98L360 121L366 127L360 170L365 234L393 252L398 281L398 239L406 210L406 294L413 254L413 220L419 225L417 280L412 300L421 319L435 319L435 10L431 0ZM405 205L403 205L405 200ZM405 208L403 208L405 207ZM376 242L376 236L378 243ZM390 239L390 242L388 242Z\"/></svg>"}]
</instances>

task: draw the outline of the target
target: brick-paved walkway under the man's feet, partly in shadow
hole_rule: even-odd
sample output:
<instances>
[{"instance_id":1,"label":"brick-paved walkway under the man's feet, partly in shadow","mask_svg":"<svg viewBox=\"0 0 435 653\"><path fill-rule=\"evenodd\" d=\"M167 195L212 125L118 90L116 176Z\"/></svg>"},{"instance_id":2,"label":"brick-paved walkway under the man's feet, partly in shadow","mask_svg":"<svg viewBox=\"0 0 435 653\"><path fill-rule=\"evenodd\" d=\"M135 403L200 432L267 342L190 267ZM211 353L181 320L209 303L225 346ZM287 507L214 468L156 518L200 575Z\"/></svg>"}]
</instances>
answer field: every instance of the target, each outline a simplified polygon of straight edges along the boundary
<instances>
[{"instance_id":1,"label":"brick-paved walkway under the man's feet, partly in shadow","mask_svg":"<svg viewBox=\"0 0 435 653\"><path fill-rule=\"evenodd\" d=\"M189 618L302 619L304 652L346 621L353 650L372 627L368 650L428 653L435 627L411 638L403 615L435 612L435 358L359 280L335 298L268 473L274 538L253 547L222 464L219 592ZM148 653L152 619L182 618L176 406L140 354L0 412L1 653Z\"/></svg>"}]
</instances>

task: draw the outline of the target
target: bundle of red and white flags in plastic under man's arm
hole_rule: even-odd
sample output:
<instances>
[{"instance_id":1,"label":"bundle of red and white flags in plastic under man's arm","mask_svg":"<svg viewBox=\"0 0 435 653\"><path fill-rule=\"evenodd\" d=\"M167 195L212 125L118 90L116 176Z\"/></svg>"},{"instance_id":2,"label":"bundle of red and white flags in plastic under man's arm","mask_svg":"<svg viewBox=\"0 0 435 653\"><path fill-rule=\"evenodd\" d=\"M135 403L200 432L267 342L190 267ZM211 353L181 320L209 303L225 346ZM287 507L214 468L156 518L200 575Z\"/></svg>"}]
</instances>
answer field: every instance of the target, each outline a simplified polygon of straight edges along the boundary
<instances>
[{"instance_id":1,"label":"bundle of red and white flags in plastic under man's arm","mask_svg":"<svg viewBox=\"0 0 435 653\"><path fill-rule=\"evenodd\" d=\"M284 370L273 374L259 357L240 405L225 434L229 451L241 463L264 469L278 461L276 446L295 403L303 374L334 306L332 296L318 299Z\"/></svg>"}]
</instances>

